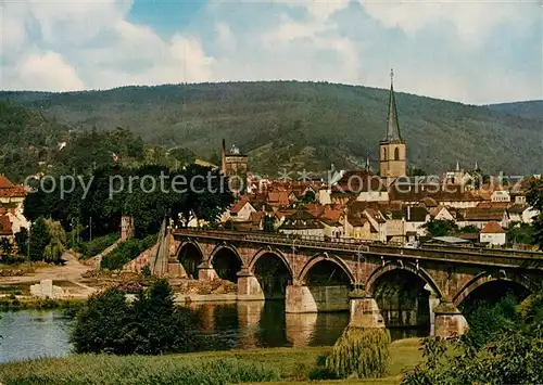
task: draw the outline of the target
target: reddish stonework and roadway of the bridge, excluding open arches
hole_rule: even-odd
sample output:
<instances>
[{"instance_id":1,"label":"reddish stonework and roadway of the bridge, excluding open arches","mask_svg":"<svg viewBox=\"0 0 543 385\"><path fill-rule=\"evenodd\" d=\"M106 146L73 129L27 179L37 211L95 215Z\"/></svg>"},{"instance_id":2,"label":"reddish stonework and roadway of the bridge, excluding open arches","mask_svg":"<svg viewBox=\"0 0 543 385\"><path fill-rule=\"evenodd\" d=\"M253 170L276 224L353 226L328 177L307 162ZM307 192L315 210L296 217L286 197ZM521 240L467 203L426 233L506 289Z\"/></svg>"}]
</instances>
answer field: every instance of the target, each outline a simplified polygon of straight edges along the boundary
<instances>
[{"instance_id":1,"label":"reddish stonework and roadway of the bridge, excluding open arches","mask_svg":"<svg viewBox=\"0 0 543 385\"><path fill-rule=\"evenodd\" d=\"M325 241L226 230L178 229L173 235L176 252L175 260L171 258L169 265L177 265L174 269L185 271L182 256L186 253L181 252L190 244L191 249L200 255L198 278L212 280L217 277L215 262L227 249L227 254L239 260L238 299L264 299L266 296L256 266L261 258L270 256L282 261L285 271L288 271L289 281L285 287L287 312L350 309L351 324L354 325L379 328L399 319L402 322L413 320L418 315L418 309L411 309L409 311L402 304L393 309L383 308L388 305L378 298L381 293L378 287L394 274L396 278L397 274L411 277L408 286L421 282L430 301L432 330L443 336L467 330L459 308L478 287L492 283L533 293L542 288L543 282L543 253L538 252L430 245L409 248L354 239ZM327 264L330 271L338 268L343 271L343 286L314 286L311 278L319 270L315 270L317 265L320 265L321 273L321 264ZM394 300L399 301L397 298ZM384 321L381 312L386 313Z\"/></svg>"}]
</instances>

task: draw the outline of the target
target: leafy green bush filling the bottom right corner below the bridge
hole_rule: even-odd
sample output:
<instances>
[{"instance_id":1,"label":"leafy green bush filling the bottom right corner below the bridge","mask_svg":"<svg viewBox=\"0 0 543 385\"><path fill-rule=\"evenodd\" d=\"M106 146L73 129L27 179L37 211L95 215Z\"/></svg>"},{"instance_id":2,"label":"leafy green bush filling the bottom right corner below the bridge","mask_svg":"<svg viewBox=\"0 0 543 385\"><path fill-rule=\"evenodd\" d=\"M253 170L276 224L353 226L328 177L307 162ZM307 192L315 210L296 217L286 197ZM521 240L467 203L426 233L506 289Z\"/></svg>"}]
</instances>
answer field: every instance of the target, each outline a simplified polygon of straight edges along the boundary
<instances>
[{"instance_id":1,"label":"leafy green bush filling the bottom right corner below the bridge","mask_svg":"<svg viewBox=\"0 0 543 385\"><path fill-rule=\"evenodd\" d=\"M520 318L480 348L470 338L425 338L424 361L402 384L543 384L543 294L532 294L519 308ZM454 357L446 355L451 346Z\"/></svg>"}]
</instances>

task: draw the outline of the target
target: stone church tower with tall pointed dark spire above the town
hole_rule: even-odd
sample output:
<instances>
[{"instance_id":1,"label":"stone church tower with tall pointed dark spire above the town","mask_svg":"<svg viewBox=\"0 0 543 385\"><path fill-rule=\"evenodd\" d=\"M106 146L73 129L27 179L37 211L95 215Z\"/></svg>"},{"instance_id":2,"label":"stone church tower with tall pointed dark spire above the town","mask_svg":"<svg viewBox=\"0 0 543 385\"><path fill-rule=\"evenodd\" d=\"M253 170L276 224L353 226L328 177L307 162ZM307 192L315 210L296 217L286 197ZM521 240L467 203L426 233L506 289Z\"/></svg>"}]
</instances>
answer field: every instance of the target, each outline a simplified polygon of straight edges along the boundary
<instances>
[{"instance_id":1,"label":"stone church tower with tall pointed dark spire above the town","mask_svg":"<svg viewBox=\"0 0 543 385\"><path fill-rule=\"evenodd\" d=\"M388 127L379 144L379 170L381 177L396 178L406 175L406 146L400 134L393 80L394 72L391 70Z\"/></svg>"}]
</instances>

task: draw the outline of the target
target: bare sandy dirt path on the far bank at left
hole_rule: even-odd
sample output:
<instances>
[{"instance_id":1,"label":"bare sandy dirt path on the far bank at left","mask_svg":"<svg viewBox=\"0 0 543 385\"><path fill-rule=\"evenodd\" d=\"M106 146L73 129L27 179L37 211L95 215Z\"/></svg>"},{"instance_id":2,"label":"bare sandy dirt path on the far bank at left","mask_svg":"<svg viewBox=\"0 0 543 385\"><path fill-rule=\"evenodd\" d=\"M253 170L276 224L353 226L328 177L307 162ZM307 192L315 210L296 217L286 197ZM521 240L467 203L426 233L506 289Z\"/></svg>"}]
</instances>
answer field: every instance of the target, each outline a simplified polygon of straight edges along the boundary
<instances>
[{"instance_id":1,"label":"bare sandy dirt path on the far bank at left","mask_svg":"<svg viewBox=\"0 0 543 385\"><path fill-rule=\"evenodd\" d=\"M34 273L21 277L0 277L0 284L20 284L39 282L41 280L53 280L53 282L72 282L74 285L79 286L83 292L93 291L91 287L80 282L83 280L81 275L85 272L92 270L93 267L79 262L77 258L70 253L64 253L62 259L65 260L63 266L41 268Z\"/></svg>"}]
</instances>

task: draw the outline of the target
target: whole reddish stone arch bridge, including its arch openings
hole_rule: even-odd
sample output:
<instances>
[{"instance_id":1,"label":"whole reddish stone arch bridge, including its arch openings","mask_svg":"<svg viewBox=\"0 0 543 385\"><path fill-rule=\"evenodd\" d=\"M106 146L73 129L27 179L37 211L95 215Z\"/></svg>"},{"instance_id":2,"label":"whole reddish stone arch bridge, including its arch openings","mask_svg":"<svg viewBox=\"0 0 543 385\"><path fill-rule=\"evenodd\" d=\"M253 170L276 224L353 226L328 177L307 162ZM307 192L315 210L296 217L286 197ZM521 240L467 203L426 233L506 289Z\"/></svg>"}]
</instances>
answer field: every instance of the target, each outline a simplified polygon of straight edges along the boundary
<instances>
[{"instance_id":1,"label":"whole reddish stone arch bridge, including its arch openings","mask_svg":"<svg viewBox=\"0 0 543 385\"><path fill-rule=\"evenodd\" d=\"M472 296L527 296L542 286L543 253L405 248L235 231L175 230L169 265L238 284L238 299L281 298L287 312L350 310L351 324L463 334ZM179 266L180 264L180 266Z\"/></svg>"}]
</instances>

